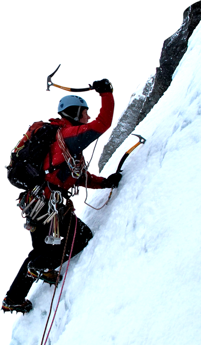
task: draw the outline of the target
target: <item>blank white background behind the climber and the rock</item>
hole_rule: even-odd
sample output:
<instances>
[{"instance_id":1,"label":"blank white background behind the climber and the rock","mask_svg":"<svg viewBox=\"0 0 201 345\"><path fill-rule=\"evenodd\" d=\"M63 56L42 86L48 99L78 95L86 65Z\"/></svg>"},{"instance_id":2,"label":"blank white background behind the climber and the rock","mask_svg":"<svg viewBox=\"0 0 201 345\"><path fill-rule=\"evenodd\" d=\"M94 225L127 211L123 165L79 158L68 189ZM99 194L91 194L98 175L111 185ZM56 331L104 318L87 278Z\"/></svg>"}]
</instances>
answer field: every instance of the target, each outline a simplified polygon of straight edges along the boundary
<instances>
[{"instance_id":1,"label":"blank white background behind the climber and the rock","mask_svg":"<svg viewBox=\"0 0 201 345\"><path fill-rule=\"evenodd\" d=\"M57 117L58 102L67 92L54 87L46 92L47 75L62 63L53 77L56 84L81 88L108 78L114 86L114 125L134 89L158 66L163 41L180 27L183 11L190 4L179 2L175 8L176 1L110 2L109 7L101 2L87 6L46 2L43 9L39 5L13 8L1 42L1 299L31 250L29 232L23 229L20 210L15 207L19 190L7 182L3 165L9 163L10 150L29 124ZM80 96L95 118L101 106L99 95L91 91ZM98 174L98 158L111 129L99 140L91 173ZM92 148L93 144L84 151L86 159ZM80 197L73 198L77 215L85 196L81 190ZM2 312L0 317L6 326L6 345L16 317Z\"/></svg>"}]
</instances>

